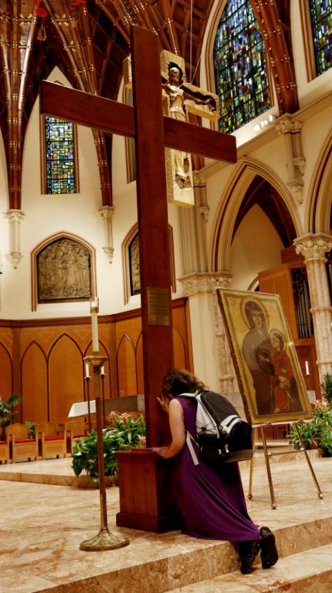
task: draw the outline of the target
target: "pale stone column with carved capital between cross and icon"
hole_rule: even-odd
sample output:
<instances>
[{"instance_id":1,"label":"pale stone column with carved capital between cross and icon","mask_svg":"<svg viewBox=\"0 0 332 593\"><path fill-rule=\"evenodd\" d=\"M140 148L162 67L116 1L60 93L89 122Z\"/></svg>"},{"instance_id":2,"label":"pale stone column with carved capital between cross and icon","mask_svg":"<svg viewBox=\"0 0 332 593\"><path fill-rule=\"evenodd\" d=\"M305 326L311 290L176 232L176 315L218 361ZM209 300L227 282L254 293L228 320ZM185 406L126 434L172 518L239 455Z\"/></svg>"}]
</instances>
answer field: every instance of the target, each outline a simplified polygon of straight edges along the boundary
<instances>
[{"instance_id":1,"label":"pale stone column with carved capital between cross and icon","mask_svg":"<svg viewBox=\"0 0 332 593\"><path fill-rule=\"evenodd\" d=\"M237 391L237 384L215 289L227 287L231 279L228 272L192 273L179 279L190 304L194 372L210 389L223 393Z\"/></svg>"}]
</instances>

